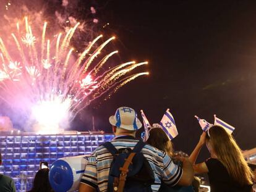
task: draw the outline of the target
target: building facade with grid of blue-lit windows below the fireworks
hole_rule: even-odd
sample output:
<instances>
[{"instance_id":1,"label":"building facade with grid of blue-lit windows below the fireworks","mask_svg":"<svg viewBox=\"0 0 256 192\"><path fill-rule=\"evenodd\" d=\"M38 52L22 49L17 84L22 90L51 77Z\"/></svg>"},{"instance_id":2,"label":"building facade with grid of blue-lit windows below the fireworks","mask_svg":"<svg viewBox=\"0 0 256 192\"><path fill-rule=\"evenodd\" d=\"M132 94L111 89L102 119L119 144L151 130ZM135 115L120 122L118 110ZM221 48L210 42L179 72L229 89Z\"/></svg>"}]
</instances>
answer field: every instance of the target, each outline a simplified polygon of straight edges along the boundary
<instances>
[{"instance_id":1,"label":"building facade with grid of blue-lit windows below the fireworks","mask_svg":"<svg viewBox=\"0 0 256 192\"><path fill-rule=\"evenodd\" d=\"M17 191L32 187L40 162L50 165L61 157L90 154L114 135L103 132L66 131L59 135L36 135L36 133L0 134L2 165L0 173L15 181Z\"/></svg>"}]
</instances>

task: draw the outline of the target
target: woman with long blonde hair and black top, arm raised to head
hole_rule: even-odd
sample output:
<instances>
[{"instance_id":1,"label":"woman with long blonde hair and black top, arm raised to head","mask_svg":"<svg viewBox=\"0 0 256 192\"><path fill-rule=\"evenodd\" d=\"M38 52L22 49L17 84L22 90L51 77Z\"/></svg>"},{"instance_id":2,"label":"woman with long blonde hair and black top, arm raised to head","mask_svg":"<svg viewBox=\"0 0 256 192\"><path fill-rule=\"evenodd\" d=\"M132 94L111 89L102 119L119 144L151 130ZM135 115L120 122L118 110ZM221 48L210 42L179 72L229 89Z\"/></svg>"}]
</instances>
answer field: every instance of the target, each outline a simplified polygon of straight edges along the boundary
<instances>
[{"instance_id":1,"label":"woman with long blonde hair and black top, arm raised to head","mask_svg":"<svg viewBox=\"0 0 256 192\"><path fill-rule=\"evenodd\" d=\"M206 144L211 157L195 164L202 146ZM233 136L223 127L213 126L203 132L197 146L189 156L195 173L208 173L212 192L252 191L252 171L242 156Z\"/></svg>"}]
</instances>

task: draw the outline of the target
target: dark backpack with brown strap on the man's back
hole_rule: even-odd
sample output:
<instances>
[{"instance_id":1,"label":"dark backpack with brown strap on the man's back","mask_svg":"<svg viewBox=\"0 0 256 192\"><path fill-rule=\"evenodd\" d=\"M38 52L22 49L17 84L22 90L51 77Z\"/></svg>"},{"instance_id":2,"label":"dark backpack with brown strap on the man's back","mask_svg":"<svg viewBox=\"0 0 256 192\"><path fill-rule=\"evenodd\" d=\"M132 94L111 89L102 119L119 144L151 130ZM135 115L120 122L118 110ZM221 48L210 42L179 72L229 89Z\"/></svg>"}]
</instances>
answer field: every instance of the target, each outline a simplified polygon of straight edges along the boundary
<instances>
[{"instance_id":1,"label":"dark backpack with brown strap on the man's back","mask_svg":"<svg viewBox=\"0 0 256 192\"><path fill-rule=\"evenodd\" d=\"M134 149L116 149L106 142L103 146L113 155L108 176L108 192L151 192L155 182L153 170L143 156L142 148L146 143L139 141Z\"/></svg>"}]
</instances>

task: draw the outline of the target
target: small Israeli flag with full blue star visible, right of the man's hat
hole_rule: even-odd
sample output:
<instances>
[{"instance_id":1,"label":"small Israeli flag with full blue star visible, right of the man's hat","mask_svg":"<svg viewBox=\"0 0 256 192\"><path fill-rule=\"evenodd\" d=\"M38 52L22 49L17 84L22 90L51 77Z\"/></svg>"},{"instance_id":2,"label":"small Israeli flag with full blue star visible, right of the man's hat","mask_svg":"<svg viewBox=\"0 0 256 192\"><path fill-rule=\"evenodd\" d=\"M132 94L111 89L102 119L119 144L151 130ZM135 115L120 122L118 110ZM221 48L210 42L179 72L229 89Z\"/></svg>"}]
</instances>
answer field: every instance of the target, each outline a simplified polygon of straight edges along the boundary
<instances>
[{"instance_id":1,"label":"small Israeli flag with full blue star visible, right of the man's hat","mask_svg":"<svg viewBox=\"0 0 256 192\"><path fill-rule=\"evenodd\" d=\"M170 140L173 140L173 138L178 135L173 115L169 112L169 109L167 109L163 115L160 125L163 127L164 132L169 136Z\"/></svg>"}]
</instances>

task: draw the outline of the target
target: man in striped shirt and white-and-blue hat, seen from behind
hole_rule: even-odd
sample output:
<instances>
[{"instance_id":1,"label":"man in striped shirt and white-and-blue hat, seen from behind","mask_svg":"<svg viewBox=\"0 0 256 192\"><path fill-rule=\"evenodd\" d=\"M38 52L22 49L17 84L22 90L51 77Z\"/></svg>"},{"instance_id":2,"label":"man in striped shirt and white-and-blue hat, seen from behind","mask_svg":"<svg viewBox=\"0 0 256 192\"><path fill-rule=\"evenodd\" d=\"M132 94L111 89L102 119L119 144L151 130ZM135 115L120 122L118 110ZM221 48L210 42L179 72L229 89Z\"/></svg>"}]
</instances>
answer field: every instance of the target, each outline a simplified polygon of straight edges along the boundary
<instances>
[{"instance_id":1,"label":"man in striped shirt and white-and-blue hat, seen from behind","mask_svg":"<svg viewBox=\"0 0 256 192\"><path fill-rule=\"evenodd\" d=\"M116 136L111 143L116 149L131 148L139 142L135 139L135 133L142 127L137 118L137 113L130 107L119 107L116 114L109 117ZM194 171L192 164L186 158L179 159L183 167L173 163L171 157L165 152L146 144L142 149L143 155L150 163L154 172L155 184L151 185L152 191L158 191L161 182L169 186L187 186L192 183ZM94 192L108 190L108 175L113 156L104 146L99 146L88 158L88 164L80 181L79 192ZM136 191L134 191L136 192Z\"/></svg>"}]
</instances>

